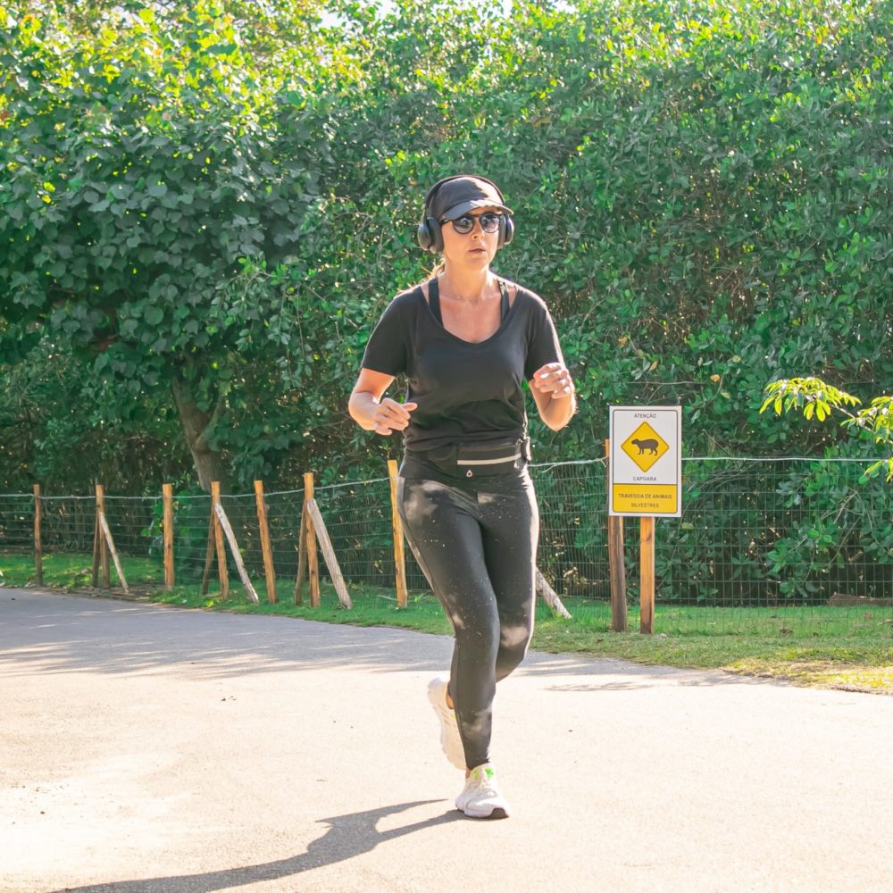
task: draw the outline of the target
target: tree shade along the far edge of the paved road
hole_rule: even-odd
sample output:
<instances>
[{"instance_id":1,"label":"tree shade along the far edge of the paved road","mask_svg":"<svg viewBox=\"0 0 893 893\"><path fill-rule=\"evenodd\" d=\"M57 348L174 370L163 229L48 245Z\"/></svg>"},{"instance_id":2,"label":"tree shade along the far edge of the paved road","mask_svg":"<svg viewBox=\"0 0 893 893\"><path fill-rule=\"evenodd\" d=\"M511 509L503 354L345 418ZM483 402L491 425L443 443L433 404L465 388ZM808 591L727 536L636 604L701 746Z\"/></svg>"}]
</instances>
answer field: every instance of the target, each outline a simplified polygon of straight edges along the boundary
<instances>
[{"instance_id":1,"label":"tree shade along the far edge of the paved road","mask_svg":"<svg viewBox=\"0 0 893 893\"><path fill-rule=\"evenodd\" d=\"M213 613L8 590L0 595L0 669L44 673L151 673L181 664L193 678L226 678L296 667L350 666L366 672L442 671L452 639L415 630L356 627L292 617ZM16 598L17 597L17 598ZM588 677L555 691L741 685L722 672L644 666L592 655L530 652L521 673ZM593 677L596 676L597 679ZM612 679L612 677L614 677ZM617 677L620 677L619 679ZM750 680L755 682L756 680Z\"/></svg>"}]
</instances>

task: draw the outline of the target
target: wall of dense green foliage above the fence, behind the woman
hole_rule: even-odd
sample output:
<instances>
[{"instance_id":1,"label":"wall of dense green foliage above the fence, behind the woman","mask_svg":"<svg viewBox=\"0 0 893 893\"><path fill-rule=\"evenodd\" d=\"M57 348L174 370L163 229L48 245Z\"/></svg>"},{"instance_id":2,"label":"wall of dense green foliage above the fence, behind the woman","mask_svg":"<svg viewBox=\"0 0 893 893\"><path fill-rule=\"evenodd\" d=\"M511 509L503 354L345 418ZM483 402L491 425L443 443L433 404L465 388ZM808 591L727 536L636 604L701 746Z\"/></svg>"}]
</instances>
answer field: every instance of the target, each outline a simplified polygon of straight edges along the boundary
<instances>
[{"instance_id":1,"label":"wall of dense green foliage above the fence, behind the woman","mask_svg":"<svg viewBox=\"0 0 893 893\"><path fill-rule=\"evenodd\" d=\"M893 377L889 0L28 6L0 60L0 349L71 345L94 425L154 436L176 393L234 483L380 470L396 444L346 395L456 171L515 208L499 269L578 381L569 430L533 424L548 455L597 455L608 404L677 402L693 454L821 453L842 433L761 415L765 381Z\"/></svg>"}]
</instances>

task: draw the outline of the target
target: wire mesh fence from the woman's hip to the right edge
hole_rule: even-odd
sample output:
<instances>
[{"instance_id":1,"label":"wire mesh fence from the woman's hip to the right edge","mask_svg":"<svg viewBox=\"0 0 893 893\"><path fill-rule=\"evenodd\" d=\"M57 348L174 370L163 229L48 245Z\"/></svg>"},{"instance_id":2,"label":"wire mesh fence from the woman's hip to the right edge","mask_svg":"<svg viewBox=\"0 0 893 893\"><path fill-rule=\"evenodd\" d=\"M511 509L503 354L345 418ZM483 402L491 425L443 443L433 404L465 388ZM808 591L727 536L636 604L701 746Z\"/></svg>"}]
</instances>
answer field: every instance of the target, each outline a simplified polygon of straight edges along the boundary
<instances>
[{"instance_id":1,"label":"wire mesh fence from the woman's hip to the right edge","mask_svg":"<svg viewBox=\"0 0 893 893\"><path fill-rule=\"evenodd\" d=\"M880 475L865 478L871 462L684 459L682 517L656 525L655 629L792 638L889 632L893 488ZM535 471L541 509L554 513L543 525L540 569L566 604L604 604L603 463ZM624 555L632 626L637 519L625 519Z\"/></svg>"}]
</instances>

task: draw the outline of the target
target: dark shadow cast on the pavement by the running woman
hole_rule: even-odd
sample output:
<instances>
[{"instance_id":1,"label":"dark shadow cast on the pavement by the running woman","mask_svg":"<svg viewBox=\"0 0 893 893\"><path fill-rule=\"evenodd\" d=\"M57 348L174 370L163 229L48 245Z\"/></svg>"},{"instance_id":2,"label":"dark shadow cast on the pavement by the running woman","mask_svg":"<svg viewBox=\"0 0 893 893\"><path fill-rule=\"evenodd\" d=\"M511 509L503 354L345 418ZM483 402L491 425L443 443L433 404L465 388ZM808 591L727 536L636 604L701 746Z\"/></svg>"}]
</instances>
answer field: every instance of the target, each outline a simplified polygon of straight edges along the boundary
<instances>
[{"instance_id":1,"label":"dark shadow cast on the pavement by the running woman","mask_svg":"<svg viewBox=\"0 0 893 893\"><path fill-rule=\"evenodd\" d=\"M114 880L86 887L63 887L55 890L54 893L171 893L173 890L176 890L177 893L210 893L211 890L245 887L247 884L258 883L262 880L293 877L314 868L345 862L356 855L370 852L380 843L404 837L414 831L434 828L448 822L466 821L462 813L451 809L432 819L412 822L400 828L386 831L376 828L379 820L386 815L402 813L416 806L439 802L441 801L415 800L412 803L380 806L378 809L363 810L362 813L349 813L321 819L321 823L329 825L329 830L320 839L313 840L305 853L290 856L288 859L280 859L277 862L244 865L203 874L180 874L142 880Z\"/></svg>"}]
</instances>

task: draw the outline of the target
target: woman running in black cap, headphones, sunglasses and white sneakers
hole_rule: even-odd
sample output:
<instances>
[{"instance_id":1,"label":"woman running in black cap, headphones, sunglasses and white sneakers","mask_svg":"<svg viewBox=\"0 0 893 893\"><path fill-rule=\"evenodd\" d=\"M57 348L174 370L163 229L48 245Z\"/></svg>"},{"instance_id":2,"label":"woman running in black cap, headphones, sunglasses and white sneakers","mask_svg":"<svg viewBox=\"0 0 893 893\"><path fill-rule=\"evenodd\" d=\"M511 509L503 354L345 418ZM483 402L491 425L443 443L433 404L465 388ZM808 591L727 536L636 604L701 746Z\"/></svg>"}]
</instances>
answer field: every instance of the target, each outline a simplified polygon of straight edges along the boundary
<instances>
[{"instance_id":1,"label":"woman running in black cap, headphones, sunglasses and white sneakers","mask_svg":"<svg viewBox=\"0 0 893 893\"><path fill-rule=\"evenodd\" d=\"M576 406L547 306L490 269L513 231L490 180L463 174L430 189L418 240L441 261L382 314L348 405L365 430L403 432L406 539L455 634L449 675L428 697L441 746L465 771L455 805L473 818L509 814L490 763L493 697L533 633L539 515L523 382L553 430ZM398 375L404 403L384 396Z\"/></svg>"}]
</instances>

